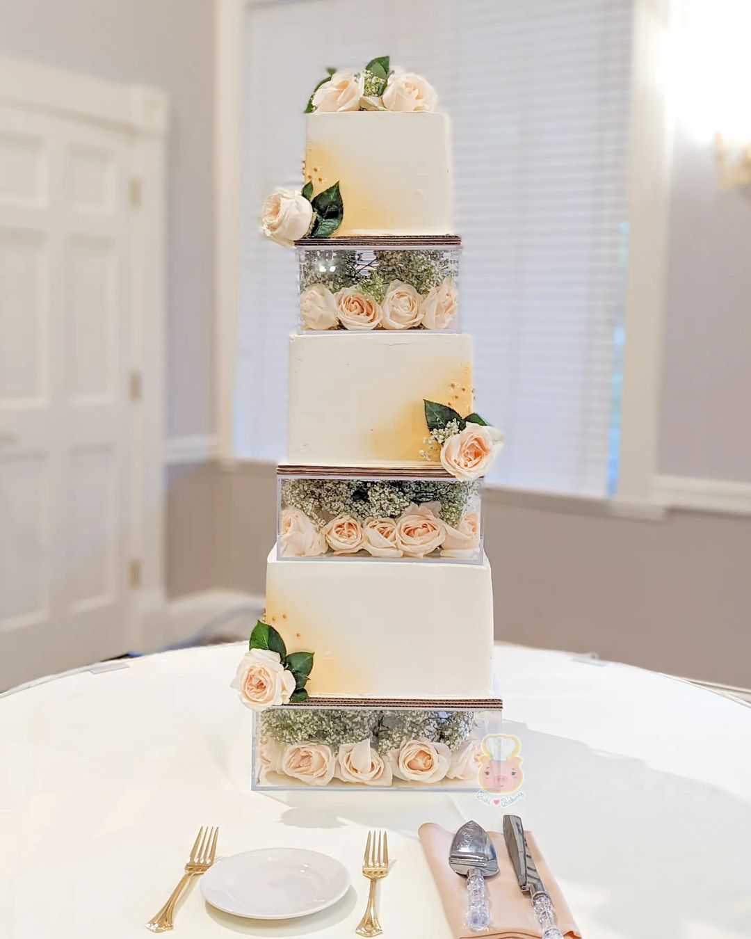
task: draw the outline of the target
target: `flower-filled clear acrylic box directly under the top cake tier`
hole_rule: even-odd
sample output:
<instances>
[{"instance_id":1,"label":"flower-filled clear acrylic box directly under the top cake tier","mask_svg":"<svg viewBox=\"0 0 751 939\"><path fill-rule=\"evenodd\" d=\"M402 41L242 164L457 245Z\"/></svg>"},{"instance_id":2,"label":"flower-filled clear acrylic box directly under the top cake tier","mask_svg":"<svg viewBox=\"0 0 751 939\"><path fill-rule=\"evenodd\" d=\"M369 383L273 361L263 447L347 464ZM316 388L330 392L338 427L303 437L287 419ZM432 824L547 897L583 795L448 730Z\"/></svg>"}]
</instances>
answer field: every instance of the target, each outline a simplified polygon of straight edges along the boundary
<instances>
[{"instance_id":1,"label":"flower-filled clear acrylic box directly under the top cake tier","mask_svg":"<svg viewBox=\"0 0 751 939\"><path fill-rule=\"evenodd\" d=\"M295 242L299 331L460 331L461 240L331 238Z\"/></svg>"}]
</instances>

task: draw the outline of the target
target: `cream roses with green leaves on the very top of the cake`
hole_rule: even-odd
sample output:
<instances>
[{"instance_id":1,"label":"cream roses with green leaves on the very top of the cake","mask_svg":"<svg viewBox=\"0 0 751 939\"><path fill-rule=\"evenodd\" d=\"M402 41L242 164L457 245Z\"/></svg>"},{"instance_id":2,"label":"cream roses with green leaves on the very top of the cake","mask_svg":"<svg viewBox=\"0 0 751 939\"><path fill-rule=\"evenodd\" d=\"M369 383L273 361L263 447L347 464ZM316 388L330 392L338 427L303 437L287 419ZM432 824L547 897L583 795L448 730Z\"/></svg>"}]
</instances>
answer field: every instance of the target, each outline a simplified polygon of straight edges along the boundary
<instances>
[{"instance_id":1,"label":"cream roses with green leaves on the very top of the cake","mask_svg":"<svg viewBox=\"0 0 751 939\"><path fill-rule=\"evenodd\" d=\"M305 114L345 111L435 111L436 89L421 75L391 69L388 55L379 55L360 71L327 69L314 87Z\"/></svg>"}]
</instances>

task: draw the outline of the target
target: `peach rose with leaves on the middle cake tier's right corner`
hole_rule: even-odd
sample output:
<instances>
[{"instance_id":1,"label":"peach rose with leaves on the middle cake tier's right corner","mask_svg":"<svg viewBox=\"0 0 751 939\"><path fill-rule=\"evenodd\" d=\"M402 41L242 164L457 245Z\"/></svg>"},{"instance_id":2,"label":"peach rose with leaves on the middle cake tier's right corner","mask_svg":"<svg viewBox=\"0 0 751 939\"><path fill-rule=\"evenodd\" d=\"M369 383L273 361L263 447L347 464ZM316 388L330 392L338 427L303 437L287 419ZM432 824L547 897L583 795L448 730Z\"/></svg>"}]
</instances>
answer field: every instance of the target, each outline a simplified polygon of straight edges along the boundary
<instances>
[{"instance_id":1,"label":"peach rose with leaves on the middle cake tier's right corner","mask_svg":"<svg viewBox=\"0 0 751 939\"><path fill-rule=\"evenodd\" d=\"M420 455L424 460L435 459L440 448L441 466L457 479L476 480L493 465L501 447L503 435L497 427L483 421L476 413L462 417L458 411L437 401L425 401L425 423L428 436Z\"/></svg>"}]
</instances>

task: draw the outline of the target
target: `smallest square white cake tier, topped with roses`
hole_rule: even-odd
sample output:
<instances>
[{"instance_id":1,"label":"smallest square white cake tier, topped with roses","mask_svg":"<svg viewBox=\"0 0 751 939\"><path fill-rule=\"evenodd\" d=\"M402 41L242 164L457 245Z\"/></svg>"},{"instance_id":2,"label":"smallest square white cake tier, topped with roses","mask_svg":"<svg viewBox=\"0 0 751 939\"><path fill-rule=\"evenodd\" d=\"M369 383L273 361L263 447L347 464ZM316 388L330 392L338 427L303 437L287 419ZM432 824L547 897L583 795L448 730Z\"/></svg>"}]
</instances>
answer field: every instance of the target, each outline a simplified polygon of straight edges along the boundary
<instances>
[{"instance_id":1,"label":"smallest square white cake tier, topped with roses","mask_svg":"<svg viewBox=\"0 0 751 939\"><path fill-rule=\"evenodd\" d=\"M447 115L307 115L303 174L315 194L339 182L344 218L334 238L452 234Z\"/></svg>"}]
</instances>

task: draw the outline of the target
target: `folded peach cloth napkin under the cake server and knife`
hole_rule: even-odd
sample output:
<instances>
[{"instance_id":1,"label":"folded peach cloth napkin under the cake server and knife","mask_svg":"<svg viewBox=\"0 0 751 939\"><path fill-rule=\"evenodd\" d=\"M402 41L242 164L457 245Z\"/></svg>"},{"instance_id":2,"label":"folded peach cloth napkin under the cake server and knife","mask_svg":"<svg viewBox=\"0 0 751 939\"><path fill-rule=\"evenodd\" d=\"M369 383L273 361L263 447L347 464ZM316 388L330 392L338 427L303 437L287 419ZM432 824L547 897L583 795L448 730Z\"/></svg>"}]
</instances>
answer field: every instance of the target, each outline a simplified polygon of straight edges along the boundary
<instances>
[{"instance_id":1,"label":"folded peach cloth napkin under the cake server and knife","mask_svg":"<svg viewBox=\"0 0 751 939\"><path fill-rule=\"evenodd\" d=\"M581 933L576 929L571 910L563 899L559 885L556 884L550 869L545 864L535 839L529 831L525 834L534 863L556 908L559 930L564 936L581 939ZM529 894L522 893L519 889L502 834L497 831L488 832L498 854L498 873L485 881L490 902L491 926L483 932L472 932L467 929L465 923L467 881L449 867L452 833L441 828L439 824L429 822L420 826L418 835L428 866L436 880L443 910L456 939L475 939L476 936L487 937L487 939L535 939L535 937L540 939L542 934L540 924L532 910Z\"/></svg>"}]
</instances>

